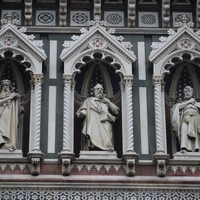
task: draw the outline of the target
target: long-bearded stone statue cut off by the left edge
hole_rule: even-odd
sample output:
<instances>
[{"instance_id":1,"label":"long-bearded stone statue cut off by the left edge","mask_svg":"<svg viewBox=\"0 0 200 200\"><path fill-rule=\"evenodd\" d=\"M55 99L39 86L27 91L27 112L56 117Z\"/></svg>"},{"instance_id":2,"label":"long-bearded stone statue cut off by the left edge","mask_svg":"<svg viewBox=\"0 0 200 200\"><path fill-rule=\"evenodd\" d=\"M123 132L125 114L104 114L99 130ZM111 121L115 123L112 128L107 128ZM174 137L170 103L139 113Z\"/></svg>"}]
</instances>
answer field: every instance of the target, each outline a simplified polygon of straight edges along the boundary
<instances>
[{"instance_id":1,"label":"long-bearded stone statue cut off by the left edge","mask_svg":"<svg viewBox=\"0 0 200 200\"><path fill-rule=\"evenodd\" d=\"M0 86L0 149L14 151L17 144L19 94L11 82L2 80Z\"/></svg>"}]
</instances>

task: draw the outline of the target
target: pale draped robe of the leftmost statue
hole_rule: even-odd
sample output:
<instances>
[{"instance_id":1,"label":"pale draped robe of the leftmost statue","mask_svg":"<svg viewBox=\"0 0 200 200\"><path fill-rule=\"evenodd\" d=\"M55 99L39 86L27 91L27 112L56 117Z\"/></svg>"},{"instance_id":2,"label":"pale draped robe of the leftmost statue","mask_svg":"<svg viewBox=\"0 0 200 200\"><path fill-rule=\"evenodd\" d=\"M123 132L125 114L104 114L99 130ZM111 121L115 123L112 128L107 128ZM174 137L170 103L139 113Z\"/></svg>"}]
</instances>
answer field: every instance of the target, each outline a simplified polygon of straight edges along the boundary
<instances>
[{"instance_id":1,"label":"pale draped robe of the leftmost statue","mask_svg":"<svg viewBox=\"0 0 200 200\"><path fill-rule=\"evenodd\" d=\"M0 106L0 144L16 149L17 128L18 100L8 100Z\"/></svg>"}]
</instances>

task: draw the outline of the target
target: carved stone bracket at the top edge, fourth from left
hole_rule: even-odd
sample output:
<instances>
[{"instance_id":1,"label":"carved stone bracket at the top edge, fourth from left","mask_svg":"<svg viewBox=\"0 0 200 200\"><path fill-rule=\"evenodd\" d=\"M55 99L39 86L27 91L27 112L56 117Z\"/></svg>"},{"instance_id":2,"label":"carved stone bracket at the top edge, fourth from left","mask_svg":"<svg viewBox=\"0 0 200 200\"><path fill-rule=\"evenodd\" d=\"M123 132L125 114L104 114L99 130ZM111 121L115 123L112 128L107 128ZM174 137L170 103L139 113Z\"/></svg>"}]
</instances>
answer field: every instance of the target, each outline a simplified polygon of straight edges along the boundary
<instances>
[{"instance_id":1,"label":"carved stone bracket at the top edge, fourth from left","mask_svg":"<svg viewBox=\"0 0 200 200\"><path fill-rule=\"evenodd\" d=\"M136 0L128 1L128 27L135 27L135 19L136 19Z\"/></svg>"}]
</instances>

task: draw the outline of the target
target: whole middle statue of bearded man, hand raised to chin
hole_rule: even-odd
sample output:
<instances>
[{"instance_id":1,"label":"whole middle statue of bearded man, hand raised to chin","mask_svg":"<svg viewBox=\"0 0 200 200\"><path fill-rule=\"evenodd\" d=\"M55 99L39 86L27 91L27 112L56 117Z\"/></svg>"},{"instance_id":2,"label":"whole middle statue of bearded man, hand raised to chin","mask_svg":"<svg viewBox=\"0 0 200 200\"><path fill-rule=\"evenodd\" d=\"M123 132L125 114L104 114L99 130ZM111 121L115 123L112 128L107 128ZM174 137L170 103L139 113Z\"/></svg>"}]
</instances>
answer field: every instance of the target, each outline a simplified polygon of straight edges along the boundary
<instances>
[{"instance_id":1,"label":"whole middle statue of bearded man, hand raised to chin","mask_svg":"<svg viewBox=\"0 0 200 200\"><path fill-rule=\"evenodd\" d=\"M82 133L86 136L86 151L105 150L113 152L113 123L119 108L103 94L103 87L97 84L94 97L87 98L77 111L83 118Z\"/></svg>"}]
</instances>

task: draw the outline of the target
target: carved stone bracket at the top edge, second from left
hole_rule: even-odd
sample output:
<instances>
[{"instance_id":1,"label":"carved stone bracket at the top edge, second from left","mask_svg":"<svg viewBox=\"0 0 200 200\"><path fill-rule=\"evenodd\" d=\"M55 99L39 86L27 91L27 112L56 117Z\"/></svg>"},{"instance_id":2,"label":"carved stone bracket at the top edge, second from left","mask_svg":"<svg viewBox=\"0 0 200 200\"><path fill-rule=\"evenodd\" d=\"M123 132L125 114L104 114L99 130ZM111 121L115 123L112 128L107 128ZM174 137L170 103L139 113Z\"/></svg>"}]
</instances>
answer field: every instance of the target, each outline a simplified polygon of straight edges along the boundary
<instances>
[{"instance_id":1,"label":"carved stone bracket at the top edge, second from left","mask_svg":"<svg viewBox=\"0 0 200 200\"><path fill-rule=\"evenodd\" d=\"M67 26L67 0L59 2L59 26Z\"/></svg>"}]
</instances>

